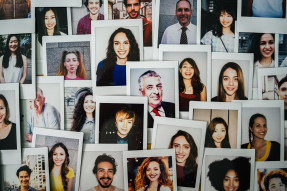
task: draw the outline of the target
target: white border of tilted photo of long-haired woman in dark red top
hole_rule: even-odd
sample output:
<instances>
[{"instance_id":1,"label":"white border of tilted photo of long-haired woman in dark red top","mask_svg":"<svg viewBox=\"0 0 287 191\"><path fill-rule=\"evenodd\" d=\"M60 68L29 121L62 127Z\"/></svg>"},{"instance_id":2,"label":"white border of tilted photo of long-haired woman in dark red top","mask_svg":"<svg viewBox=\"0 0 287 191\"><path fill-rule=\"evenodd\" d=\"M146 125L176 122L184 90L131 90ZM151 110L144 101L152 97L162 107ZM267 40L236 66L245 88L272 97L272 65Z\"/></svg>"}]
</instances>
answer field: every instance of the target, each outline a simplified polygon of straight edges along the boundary
<instances>
[{"instance_id":1,"label":"white border of tilted photo of long-haired woman in dark red top","mask_svg":"<svg viewBox=\"0 0 287 191\"><path fill-rule=\"evenodd\" d=\"M207 122L205 121L194 121L194 120L185 120L185 119L173 119L173 118L166 118L166 117L154 117L154 125L153 125L153 132L152 132L152 143L151 149L160 149L156 148L155 142L157 138L157 130L158 125L168 125L166 130L168 131L169 128L173 128L173 126L180 127L184 131L189 131L190 129L200 129L201 130L201 138L200 144L198 145L198 167L196 173L196 183L195 187L181 187L178 186L179 189L188 189L193 191L198 191L199 183L200 183L200 173L201 173L201 166L202 166L202 159L203 159L203 151L204 151L204 142L205 142L205 133L206 133L206 126ZM163 135L159 135L163 136Z\"/></svg>"}]
</instances>

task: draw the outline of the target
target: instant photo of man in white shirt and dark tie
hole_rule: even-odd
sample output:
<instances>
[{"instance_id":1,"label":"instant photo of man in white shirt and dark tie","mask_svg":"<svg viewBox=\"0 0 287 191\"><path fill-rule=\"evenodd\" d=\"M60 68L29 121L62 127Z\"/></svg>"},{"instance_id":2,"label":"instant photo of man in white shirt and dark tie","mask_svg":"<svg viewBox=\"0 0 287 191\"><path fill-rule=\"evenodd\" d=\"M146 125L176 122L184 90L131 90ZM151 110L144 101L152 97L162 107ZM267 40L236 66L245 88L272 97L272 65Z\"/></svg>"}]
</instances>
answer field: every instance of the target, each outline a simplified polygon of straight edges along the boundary
<instances>
[{"instance_id":1,"label":"instant photo of man in white shirt and dark tie","mask_svg":"<svg viewBox=\"0 0 287 191\"><path fill-rule=\"evenodd\" d=\"M159 44L197 44L198 1L156 1L154 47Z\"/></svg>"}]
</instances>

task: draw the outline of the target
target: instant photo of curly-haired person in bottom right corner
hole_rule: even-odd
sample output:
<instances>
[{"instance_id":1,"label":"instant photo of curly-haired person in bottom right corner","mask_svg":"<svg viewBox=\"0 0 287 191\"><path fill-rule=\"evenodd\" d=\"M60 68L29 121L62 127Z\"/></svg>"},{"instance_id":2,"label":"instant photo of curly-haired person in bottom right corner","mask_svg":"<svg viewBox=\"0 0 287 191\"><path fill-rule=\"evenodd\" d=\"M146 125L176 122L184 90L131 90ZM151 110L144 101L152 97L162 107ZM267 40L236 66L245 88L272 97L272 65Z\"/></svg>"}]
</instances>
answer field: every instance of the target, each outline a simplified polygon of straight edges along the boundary
<instances>
[{"instance_id":1,"label":"instant photo of curly-haired person in bottom right corner","mask_svg":"<svg viewBox=\"0 0 287 191\"><path fill-rule=\"evenodd\" d=\"M254 191L285 191L287 188L287 162L256 162Z\"/></svg>"}]
</instances>

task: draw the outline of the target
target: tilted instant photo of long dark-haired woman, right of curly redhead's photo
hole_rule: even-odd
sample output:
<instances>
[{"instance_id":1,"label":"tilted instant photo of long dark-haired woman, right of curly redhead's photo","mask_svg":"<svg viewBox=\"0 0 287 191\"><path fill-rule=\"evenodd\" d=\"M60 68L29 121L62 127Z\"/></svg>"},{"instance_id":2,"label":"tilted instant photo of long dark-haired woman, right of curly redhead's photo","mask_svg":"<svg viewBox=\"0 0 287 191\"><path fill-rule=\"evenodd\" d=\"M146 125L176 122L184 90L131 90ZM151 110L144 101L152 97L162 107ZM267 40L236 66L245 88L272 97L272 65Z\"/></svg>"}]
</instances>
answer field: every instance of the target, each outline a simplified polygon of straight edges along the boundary
<instances>
[{"instance_id":1,"label":"tilted instant photo of long dark-haired woman, right of curly redhead's photo","mask_svg":"<svg viewBox=\"0 0 287 191\"><path fill-rule=\"evenodd\" d=\"M151 148L175 149L176 168L180 169L178 189L199 189L206 125L202 121L155 117Z\"/></svg>"}]
</instances>

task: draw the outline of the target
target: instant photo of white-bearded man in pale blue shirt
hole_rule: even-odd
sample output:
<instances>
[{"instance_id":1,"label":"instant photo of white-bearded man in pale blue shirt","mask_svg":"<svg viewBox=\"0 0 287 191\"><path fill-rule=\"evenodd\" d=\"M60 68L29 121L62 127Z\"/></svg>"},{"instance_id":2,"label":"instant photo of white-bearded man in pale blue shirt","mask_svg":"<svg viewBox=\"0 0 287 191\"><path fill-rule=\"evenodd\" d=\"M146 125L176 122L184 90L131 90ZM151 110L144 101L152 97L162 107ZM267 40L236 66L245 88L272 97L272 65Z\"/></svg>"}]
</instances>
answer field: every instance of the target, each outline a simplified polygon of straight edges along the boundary
<instances>
[{"instance_id":1,"label":"instant photo of white-bearded man in pale blue shirt","mask_svg":"<svg viewBox=\"0 0 287 191\"><path fill-rule=\"evenodd\" d=\"M34 127L64 129L64 78L38 76L36 98L21 100L21 140L31 147Z\"/></svg>"}]
</instances>

